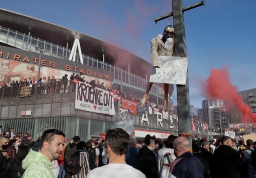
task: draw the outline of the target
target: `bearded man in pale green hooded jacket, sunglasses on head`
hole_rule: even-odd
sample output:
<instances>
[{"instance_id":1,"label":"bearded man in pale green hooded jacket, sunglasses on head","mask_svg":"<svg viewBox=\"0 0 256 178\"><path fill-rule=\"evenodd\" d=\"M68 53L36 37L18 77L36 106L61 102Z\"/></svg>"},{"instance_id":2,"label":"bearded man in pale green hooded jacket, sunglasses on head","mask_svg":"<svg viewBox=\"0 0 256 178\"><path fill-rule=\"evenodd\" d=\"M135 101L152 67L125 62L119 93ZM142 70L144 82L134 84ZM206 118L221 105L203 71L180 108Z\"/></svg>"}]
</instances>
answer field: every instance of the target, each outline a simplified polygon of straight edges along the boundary
<instances>
[{"instance_id":1,"label":"bearded man in pale green hooded jacket, sunglasses on head","mask_svg":"<svg viewBox=\"0 0 256 178\"><path fill-rule=\"evenodd\" d=\"M56 129L43 132L40 152L30 150L22 161L25 169L22 178L55 178L52 161L59 159L63 151L65 134Z\"/></svg>"}]
</instances>

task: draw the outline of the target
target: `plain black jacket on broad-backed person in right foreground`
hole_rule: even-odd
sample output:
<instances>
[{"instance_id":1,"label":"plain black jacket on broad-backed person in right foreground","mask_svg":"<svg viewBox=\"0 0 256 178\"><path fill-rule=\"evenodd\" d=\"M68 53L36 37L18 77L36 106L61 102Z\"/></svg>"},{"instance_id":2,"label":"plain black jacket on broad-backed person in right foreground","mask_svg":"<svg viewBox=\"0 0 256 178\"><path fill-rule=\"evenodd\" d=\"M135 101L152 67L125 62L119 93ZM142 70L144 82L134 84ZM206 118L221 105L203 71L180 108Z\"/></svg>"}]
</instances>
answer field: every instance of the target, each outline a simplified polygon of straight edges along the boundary
<instances>
[{"instance_id":1,"label":"plain black jacket on broad-backed person in right foreground","mask_svg":"<svg viewBox=\"0 0 256 178\"><path fill-rule=\"evenodd\" d=\"M234 148L228 145L221 145L213 154L212 178L240 178L240 171L243 162Z\"/></svg>"}]
</instances>

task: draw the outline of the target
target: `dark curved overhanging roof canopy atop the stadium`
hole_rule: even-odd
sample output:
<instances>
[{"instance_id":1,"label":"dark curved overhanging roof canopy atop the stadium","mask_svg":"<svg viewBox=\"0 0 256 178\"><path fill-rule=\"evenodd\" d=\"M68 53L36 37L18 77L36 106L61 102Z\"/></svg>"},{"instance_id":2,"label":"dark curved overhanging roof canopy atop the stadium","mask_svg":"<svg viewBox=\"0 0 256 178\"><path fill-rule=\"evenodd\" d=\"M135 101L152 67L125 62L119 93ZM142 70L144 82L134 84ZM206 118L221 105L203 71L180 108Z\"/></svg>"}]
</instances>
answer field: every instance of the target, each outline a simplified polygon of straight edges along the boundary
<instances>
[{"instance_id":1,"label":"dark curved overhanging roof canopy atop the stadium","mask_svg":"<svg viewBox=\"0 0 256 178\"><path fill-rule=\"evenodd\" d=\"M0 8L0 25L25 34L30 32L30 36L35 36L63 47L66 47L68 42L69 49L72 49L74 37L79 36L83 54L99 60L103 60L104 54L104 61L108 64L120 67L126 71L128 71L128 64L130 64L130 72L143 78L145 78L146 73L148 76L150 74L151 64L137 55L102 40L53 23ZM120 63L120 59L115 57L117 55L125 58L126 64Z\"/></svg>"}]
</instances>

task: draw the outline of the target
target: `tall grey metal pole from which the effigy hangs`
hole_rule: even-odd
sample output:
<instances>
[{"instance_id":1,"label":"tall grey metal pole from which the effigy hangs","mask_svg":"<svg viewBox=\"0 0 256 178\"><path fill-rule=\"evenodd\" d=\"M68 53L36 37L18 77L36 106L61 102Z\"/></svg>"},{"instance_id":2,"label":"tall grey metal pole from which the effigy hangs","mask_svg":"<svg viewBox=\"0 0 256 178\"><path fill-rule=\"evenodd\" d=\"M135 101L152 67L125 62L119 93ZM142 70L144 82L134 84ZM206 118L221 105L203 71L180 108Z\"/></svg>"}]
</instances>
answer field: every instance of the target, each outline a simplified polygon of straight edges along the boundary
<instances>
[{"instance_id":1,"label":"tall grey metal pole from which the effigy hangs","mask_svg":"<svg viewBox=\"0 0 256 178\"><path fill-rule=\"evenodd\" d=\"M174 42L175 42L175 56L186 57L186 38L185 38L185 25L184 15L182 12L183 0L172 0L172 12L174 28L176 29ZM177 49L178 48L178 49ZM192 133L191 118L190 118L190 101L189 101L189 78L187 73L186 85L177 85L178 97L178 118L179 118L179 133ZM192 138L189 140L189 150L192 152Z\"/></svg>"}]
</instances>

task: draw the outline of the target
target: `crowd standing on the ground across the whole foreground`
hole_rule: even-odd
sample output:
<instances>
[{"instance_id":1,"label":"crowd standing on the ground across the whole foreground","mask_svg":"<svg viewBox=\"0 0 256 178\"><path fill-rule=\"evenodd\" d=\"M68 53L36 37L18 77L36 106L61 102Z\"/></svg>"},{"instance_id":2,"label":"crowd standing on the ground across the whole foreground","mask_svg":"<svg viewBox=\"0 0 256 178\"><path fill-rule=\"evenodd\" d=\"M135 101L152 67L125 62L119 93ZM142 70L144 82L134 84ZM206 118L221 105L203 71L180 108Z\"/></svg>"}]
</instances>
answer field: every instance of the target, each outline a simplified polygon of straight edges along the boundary
<instances>
[{"instance_id":1,"label":"crowd standing on the ground across the whole foreground","mask_svg":"<svg viewBox=\"0 0 256 178\"><path fill-rule=\"evenodd\" d=\"M1 178L255 178L256 142L228 136L192 141L149 134L137 143L121 128L108 129L105 140L65 138L49 129L37 140L7 127L0 137Z\"/></svg>"}]
</instances>

